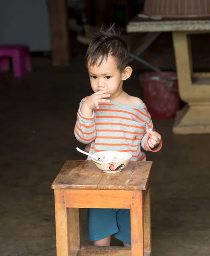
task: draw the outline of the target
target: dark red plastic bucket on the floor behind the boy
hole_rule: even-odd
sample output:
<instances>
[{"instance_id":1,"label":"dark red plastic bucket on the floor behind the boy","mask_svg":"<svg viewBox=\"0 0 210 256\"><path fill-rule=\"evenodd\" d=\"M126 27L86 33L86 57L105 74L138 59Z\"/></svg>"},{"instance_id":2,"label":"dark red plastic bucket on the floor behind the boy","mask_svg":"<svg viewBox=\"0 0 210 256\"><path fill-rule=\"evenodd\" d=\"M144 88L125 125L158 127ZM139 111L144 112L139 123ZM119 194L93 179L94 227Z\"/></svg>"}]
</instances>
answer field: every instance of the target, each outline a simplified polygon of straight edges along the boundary
<instances>
[{"instance_id":1,"label":"dark red plastic bucket on the floor behind the boy","mask_svg":"<svg viewBox=\"0 0 210 256\"><path fill-rule=\"evenodd\" d=\"M139 80L143 87L145 104L153 118L176 116L176 111L182 106L176 73L145 73L139 76Z\"/></svg>"}]
</instances>

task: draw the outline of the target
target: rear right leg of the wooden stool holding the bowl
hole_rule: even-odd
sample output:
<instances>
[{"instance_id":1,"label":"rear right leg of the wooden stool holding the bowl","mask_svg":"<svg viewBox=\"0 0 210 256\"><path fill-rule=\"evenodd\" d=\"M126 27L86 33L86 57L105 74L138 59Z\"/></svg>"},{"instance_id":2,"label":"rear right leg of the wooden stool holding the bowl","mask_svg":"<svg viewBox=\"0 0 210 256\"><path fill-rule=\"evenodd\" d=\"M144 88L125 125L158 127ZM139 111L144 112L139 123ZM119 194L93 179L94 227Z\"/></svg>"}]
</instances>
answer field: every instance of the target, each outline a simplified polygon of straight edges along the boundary
<instances>
[{"instance_id":1,"label":"rear right leg of the wooden stool holding the bowl","mask_svg":"<svg viewBox=\"0 0 210 256\"><path fill-rule=\"evenodd\" d=\"M146 252L151 252L151 201L150 186L144 204L144 247Z\"/></svg>"}]
</instances>

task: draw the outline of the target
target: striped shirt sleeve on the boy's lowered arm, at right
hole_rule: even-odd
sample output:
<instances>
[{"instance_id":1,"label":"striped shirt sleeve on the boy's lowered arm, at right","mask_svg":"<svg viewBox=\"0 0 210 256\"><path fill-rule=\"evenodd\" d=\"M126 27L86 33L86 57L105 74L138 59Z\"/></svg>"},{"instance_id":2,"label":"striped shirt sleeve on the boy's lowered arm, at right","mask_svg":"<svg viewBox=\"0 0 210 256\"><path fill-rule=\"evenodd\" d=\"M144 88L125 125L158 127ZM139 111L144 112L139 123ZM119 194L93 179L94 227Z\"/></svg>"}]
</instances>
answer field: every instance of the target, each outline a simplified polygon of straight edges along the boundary
<instances>
[{"instance_id":1,"label":"striped shirt sleeve on the boy's lowered arm, at right","mask_svg":"<svg viewBox=\"0 0 210 256\"><path fill-rule=\"evenodd\" d=\"M158 145L156 145L154 148L150 148L148 141L149 141L149 134L147 133L147 131L151 128L153 131L153 122L150 116L150 113L148 112L148 110L146 108L144 108L144 113L145 113L145 134L142 137L141 140L141 147L146 150L146 151L152 151L152 152L158 152L161 148L162 148L162 140L160 141L160 143Z\"/></svg>"}]
</instances>

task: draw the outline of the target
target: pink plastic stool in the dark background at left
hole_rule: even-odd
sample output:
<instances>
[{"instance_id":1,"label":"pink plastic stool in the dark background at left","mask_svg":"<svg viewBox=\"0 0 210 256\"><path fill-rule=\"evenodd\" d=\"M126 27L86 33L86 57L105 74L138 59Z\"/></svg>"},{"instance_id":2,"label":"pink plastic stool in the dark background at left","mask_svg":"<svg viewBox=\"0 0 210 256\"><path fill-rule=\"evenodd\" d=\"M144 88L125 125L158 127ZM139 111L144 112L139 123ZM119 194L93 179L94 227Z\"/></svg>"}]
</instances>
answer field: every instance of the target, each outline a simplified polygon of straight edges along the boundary
<instances>
[{"instance_id":1,"label":"pink plastic stool in the dark background at left","mask_svg":"<svg viewBox=\"0 0 210 256\"><path fill-rule=\"evenodd\" d=\"M1 45L0 70L9 70L9 57L12 59L15 77L21 77L26 70L32 70L30 51L26 45Z\"/></svg>"}]
</instances>

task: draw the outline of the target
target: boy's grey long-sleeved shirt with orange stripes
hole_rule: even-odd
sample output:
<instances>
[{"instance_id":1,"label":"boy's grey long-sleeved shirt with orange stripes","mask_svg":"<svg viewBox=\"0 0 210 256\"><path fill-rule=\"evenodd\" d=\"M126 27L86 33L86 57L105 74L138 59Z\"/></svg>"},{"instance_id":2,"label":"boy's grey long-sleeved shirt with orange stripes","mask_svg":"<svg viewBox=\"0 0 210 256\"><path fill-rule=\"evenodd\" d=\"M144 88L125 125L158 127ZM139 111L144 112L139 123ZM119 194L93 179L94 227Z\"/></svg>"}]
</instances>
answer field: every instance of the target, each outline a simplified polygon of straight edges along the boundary
<instances>
[{"instance_id":1,"label":"boy's grey long-sleeved shirt with orange stripes","mask_svg":"<svg viewBox=\"0 0 210 256\"><path fill-rule=\"evenodd\" d=\"M80 111L87 98L80 102L74 128L77 140L87 144L86 152L123 151L132 154L131 161L145 161L145 151L160 150L162 142L155 148L148 145L149 134L146 131L153 129L153 123L144 103L125 105L110 100L110 103L99 103L99 109L95 108L92 116L88 117Z\"/></svg>"}]
</instances>

